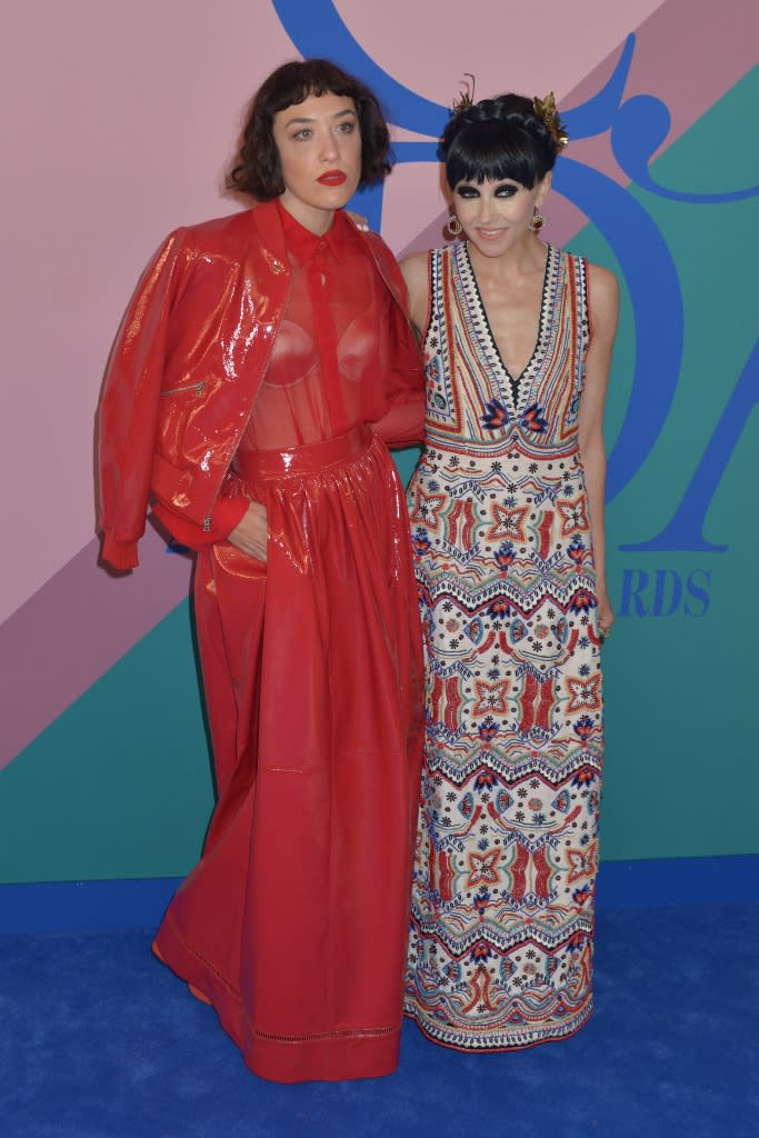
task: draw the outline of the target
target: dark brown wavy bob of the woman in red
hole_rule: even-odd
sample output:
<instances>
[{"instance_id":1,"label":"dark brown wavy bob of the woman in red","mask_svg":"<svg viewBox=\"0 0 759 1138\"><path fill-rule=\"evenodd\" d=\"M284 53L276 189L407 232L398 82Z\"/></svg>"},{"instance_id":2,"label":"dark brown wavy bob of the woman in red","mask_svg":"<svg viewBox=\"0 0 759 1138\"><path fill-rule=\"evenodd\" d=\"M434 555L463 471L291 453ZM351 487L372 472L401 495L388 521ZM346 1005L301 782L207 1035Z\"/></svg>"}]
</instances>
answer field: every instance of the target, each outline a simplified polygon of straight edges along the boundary
<instances>
[{"instance_id":1,"label":"dark brown wavy bob of the woman in red","mask_svg":"<svg viewBox=\"0 0 759 1138\"><path fill-rule=\"evenodd\" d=\"M264 81L253 98L242 129L240 150L226 179L230 190L270 201L284 190L279 151L272 131L274 115L312 94L341 94L353 99L361 131L358 187L381 182L390 172L390 135L377 97L364 83L329 59L283 64Z\"/></svg>"}]
</instances>

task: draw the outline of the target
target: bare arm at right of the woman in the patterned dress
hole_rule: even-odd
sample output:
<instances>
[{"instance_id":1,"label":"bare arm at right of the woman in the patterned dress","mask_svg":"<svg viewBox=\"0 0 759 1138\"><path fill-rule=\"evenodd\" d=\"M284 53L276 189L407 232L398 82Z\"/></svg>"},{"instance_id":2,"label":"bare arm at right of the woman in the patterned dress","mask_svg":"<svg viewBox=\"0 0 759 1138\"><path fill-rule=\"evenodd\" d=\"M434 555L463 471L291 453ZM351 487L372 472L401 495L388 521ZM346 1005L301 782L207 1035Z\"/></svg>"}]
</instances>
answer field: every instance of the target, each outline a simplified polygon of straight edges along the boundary
<instances>
[{"instance_id":1,"label":"bare arm at right of the woman in the patterned dress","mask_svg":"<svg viewBox=\"0 0 759 1138\"><path fill-rule=\"evenodd\" d=\"M588 265L588 292L592 314L591 346L585 362L585 381L580 397L579 448L591 511L599 627L608 633L614 622L614 613L607 589L604 544L607 454L603 444L603 409L617 332L619 308L617 278L607 269Z\"/></svg>"}]
</instances>

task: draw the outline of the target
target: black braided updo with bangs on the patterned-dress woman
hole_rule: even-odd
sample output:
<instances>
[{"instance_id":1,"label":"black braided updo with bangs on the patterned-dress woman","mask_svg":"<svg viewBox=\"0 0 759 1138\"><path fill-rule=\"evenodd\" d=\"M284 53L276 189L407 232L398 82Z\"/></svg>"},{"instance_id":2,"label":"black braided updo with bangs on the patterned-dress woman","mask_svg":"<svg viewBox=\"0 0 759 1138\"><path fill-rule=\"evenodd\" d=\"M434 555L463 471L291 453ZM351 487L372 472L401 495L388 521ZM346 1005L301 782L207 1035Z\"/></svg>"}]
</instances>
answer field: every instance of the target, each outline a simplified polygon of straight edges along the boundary
<instances>
[{"instance_id":1,"label":"black braided updo with bangs on the patterned-dress woman","mask_svg":"<svg viewBox=\"0 0 759 1138\"><path fill-rule=\"evenodd\" d=\"M448 121L440 154L452 190L460 182L509 178L531 190L556 160L559 148L533 100L501 94L464 107Z\"/></svg>"}]
</instances>

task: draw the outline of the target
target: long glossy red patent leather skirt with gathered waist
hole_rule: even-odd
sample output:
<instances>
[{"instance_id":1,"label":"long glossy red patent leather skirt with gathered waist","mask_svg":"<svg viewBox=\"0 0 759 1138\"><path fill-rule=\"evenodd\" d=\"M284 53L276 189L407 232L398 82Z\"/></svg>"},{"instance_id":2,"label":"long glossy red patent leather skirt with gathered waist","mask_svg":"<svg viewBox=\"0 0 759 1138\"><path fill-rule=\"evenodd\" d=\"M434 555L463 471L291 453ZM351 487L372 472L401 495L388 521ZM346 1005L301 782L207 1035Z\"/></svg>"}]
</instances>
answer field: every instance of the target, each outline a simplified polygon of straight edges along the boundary
<instances>
[{"instance_id":1,"label":"long glossy red patent leather skirt with gathered waist","mask_svg":"<svg viewBox=\"0 0 759 1138\"><path fill-rule=\"evenodd\" d=\"M405 496L368 428L238 472L267 560L226 542L198 559L217 805L156 950L257 1074L388 1074L422 747Z\"/></svg>"}]
</instances>

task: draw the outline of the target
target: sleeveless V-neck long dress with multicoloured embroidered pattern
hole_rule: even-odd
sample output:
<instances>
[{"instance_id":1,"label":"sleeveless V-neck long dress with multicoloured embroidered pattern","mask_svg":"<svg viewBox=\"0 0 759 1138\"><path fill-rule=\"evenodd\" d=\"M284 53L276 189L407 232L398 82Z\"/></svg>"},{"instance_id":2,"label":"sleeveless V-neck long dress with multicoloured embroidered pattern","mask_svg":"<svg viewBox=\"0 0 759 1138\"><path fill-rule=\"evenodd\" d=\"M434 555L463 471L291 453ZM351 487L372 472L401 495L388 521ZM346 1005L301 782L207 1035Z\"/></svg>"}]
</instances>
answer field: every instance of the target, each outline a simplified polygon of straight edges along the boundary
<instances>
[{"instance_id":1,"label":"sleeveless V-neck long dress with multicoloured embroidered pattern","mask_svg":"<svg viewBox=\"0 0 759 1138\"><path fill-rule=\"evenodd\" d=\"M427 734L405 1011L509 1049L592 1012L603 725L578 448L587 264L547 247L523 373L464 242L430 254L427 447L409 489Z\"/></svg>"}]
</instances>

